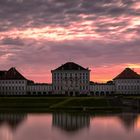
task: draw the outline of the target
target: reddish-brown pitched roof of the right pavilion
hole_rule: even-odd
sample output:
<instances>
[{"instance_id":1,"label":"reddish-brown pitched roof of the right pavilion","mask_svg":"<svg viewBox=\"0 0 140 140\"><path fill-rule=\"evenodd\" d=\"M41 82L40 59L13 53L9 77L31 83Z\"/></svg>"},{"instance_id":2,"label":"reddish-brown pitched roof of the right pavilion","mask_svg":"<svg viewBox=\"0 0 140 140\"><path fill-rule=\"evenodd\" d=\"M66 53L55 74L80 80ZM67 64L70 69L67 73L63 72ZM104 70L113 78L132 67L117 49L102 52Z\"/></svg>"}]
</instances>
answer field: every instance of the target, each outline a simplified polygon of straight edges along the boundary
<instances>
[{"instance_id":1,"label":"reddish-brown pitched roof of the right pavilion","mask_svg":"<svg viewBox=\"0 0 140 140\"><path fill-rule=\"evenodd\" d=\"M124 69L115 79L140 79L140 75L130 68Z\"/></svg>"}]
</instances>

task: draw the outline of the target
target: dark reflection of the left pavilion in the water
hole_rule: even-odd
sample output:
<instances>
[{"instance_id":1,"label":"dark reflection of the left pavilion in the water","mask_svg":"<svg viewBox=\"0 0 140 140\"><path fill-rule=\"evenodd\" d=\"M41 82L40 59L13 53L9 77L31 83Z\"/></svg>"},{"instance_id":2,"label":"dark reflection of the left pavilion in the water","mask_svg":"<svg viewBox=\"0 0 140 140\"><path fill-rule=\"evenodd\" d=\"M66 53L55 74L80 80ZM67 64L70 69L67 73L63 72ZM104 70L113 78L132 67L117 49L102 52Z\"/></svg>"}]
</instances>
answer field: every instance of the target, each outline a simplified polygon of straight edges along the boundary
<instances>
[{"instance_id":1,"label":"dark reflection of the left pavilion in the water","mask_svg":"<svg viewBox=\"0 0 140 140\"><path fill-rule=\"evenodd\" d=\"M15 130L26 118L26 114L0 114L0 126L7 124L12 130Z\"/></svg>"}]
</instances>

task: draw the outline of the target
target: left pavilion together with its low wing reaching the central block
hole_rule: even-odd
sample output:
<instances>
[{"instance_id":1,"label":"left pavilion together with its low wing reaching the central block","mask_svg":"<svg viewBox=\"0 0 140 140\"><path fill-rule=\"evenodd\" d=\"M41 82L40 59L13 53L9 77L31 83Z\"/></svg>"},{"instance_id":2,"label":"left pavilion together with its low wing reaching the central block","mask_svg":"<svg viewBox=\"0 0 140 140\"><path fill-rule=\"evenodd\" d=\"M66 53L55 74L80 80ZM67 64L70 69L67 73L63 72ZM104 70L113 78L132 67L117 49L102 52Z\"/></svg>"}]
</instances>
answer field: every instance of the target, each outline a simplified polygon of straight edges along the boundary
<instances>
[{"instance_id":1,"label":"left pavilion together with its low wing reaching the central block","mask_svg":"<svg viewBox=\"0 0 140 140\"><path fill-rule=\"evenodd\" d=\"M0 95L48 95L52 84L37 84L27 80L15 68L0 71Z\"/></svg>"}]
</instances>

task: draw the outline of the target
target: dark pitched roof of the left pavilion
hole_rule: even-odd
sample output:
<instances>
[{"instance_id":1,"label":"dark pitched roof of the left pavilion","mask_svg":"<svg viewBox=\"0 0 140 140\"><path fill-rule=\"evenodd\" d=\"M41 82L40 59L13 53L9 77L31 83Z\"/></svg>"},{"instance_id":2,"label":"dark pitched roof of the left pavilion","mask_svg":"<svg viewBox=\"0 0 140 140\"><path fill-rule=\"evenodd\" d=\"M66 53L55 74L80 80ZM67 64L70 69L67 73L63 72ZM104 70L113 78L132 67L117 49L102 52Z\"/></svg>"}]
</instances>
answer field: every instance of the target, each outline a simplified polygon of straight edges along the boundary
<instances>
[{"instance_id":1,"label":"dark pitched roof of the left pavilion","mask_svg":"<svg viewBox=\"0 0 140 140\"><path fill-rule=\"evenodd\" d=\"M15 68L10 68L8 71L0 71L1 80L26 80Z\"/></svg>"}]
</instances>

